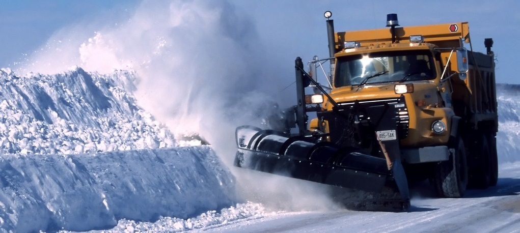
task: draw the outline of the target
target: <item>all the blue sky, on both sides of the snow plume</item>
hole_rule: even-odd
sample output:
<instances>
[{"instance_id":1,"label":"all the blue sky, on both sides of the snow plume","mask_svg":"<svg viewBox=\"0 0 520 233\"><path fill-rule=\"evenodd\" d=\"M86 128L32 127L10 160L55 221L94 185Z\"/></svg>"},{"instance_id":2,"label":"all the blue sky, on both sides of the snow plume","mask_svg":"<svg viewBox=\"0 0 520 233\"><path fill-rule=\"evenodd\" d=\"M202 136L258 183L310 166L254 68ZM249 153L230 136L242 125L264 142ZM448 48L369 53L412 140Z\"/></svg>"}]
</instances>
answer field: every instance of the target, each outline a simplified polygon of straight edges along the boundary
<instances>
[{"instance_id":1,"label":"all the blue sky, on both sides of the snow plume","mask_svg":"<svg viewBox=\"0 0 520 233\"><path fill-rule=\"evenodd\" d=\"M141 1L0 1L0 66L22 61L42 48L63 28L96 30L133 15ZM184 1L173 1L182 4ZM385 26L386 14L397 13L401 26L469 21L473 48L485 51L484 38L495 41L497 82L520 84L516 78L517 38L520 37L518 1L291 1L229 0L249 17L267 56L292 72L294 58L327 56L325 10L333 12L337 31ZM79 26L78 26L79 25ZM80 32L78 32L80 33ZM83 33L83 32L82 32ZM469 47L469 46L468 46Z\"/></svg>"}]
</instances>

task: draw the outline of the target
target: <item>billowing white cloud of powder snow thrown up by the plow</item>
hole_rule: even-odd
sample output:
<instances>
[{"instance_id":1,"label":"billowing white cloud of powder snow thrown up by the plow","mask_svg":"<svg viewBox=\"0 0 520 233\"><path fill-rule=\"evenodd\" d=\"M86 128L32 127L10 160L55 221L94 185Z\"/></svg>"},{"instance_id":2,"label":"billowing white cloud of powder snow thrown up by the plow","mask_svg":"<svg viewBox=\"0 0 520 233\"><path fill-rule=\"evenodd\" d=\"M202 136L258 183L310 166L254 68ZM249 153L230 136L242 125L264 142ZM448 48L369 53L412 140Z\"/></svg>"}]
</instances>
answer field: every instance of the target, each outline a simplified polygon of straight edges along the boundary
<instances>
[{"instance_id":1,"label":"billowing white cloud of powder snow thrown up by the plow","mask_svg":"<svg viewBox=\"0 0 520 233\"><path fill-rule=\"evenodd\" d=\"M88 37L77 34L78 28L55 34L46 52L35 54L20 70L58 73L73 65L99 73L134 70L139 105L174 133L202 135L230 167L236 127L258 125L263 116L278 111L278 104L287 106L276 98L293 100L279 96L291 80L283 81L277 73L288 67L268 59L254 21L226 1L145 0L116 26L86 26L94 28ZM267 179L258 191L283 191L292 199L285 203L297 202L305 193L268 183L280 181ZM316 203L308 193L304 197Z\"/></svg>"}]
</instances>

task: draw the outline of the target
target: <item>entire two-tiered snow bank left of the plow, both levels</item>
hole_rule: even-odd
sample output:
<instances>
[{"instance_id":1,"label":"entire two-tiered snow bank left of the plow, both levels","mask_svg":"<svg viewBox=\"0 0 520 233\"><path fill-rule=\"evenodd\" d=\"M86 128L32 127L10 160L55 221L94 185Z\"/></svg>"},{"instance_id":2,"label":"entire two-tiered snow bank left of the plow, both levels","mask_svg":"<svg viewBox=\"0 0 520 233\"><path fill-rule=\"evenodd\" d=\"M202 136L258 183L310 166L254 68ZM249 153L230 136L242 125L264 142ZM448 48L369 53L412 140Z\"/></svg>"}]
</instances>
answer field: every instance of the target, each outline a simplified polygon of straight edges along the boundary
<instances>
[{"instance_id":1,"label":"entire two-tiered snow bank left of the plow, both levels","mask_svg":"<svg viewBox=\"0 0 520 233\"><path fill-rule=\"evenodd\" d=\"M91 230L236 203L208 146L176 147L136 104L136 75L0 72L0 231Z\"/></svg>"}]
</instances>

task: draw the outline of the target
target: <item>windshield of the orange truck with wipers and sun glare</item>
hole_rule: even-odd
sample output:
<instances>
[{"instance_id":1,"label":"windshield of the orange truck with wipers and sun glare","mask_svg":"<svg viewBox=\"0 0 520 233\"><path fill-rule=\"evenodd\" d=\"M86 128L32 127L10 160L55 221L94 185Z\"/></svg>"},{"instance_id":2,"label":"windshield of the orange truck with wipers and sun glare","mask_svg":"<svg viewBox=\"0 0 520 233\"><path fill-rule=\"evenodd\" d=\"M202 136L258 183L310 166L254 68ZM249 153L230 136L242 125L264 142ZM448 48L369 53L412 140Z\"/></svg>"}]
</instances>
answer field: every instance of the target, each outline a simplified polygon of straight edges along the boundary
<instances>
[{"instance_id":1,"label":"windshield of the orange truck with wipers and sun glare","mask_svg":"<svg viewBox=\"0 0 520 233\"><path fill-rule=\"evenodd\" d=\"M431 80L435 76L428 50L374 52L337 58L334 86Z\"/></svg>"}]
</instances>

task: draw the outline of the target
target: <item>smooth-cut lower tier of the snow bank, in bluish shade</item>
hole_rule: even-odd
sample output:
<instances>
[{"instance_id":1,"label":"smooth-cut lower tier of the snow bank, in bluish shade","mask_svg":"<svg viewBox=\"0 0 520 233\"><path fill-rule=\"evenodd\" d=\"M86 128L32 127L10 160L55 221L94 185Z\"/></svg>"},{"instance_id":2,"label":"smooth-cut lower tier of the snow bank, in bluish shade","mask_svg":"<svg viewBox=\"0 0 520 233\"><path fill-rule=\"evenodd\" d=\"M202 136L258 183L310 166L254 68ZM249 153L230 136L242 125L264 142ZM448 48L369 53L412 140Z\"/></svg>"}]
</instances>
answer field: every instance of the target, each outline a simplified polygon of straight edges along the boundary
<instances>
[{"instance_id":1,"label":"smooth-cut lower tier of the snow bank, in bluish shade","mask_svg":"<svg viewBox=\"0 0 520 233\"><path fill-rule=\"evenodd\" d=\"M17 232L106 229L235 203L232 175L207 146L3 155L0 184L0 228Z\"/></svg>"}]
</instances>

